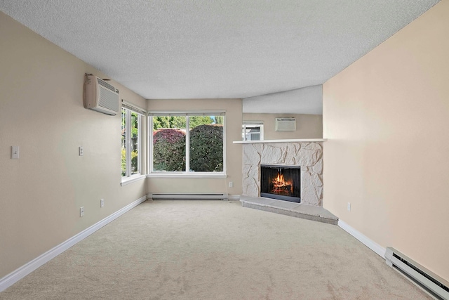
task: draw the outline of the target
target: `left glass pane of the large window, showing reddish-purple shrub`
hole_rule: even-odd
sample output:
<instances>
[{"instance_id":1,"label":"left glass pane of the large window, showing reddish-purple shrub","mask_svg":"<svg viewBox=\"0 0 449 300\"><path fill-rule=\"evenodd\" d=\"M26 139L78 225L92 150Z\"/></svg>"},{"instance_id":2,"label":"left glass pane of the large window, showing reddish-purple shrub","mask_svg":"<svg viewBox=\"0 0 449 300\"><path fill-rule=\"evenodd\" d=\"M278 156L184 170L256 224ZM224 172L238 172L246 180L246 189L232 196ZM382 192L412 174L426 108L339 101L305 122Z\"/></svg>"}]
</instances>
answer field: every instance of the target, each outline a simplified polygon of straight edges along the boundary
<instances>
[{"instance_id":1,"label":"left glass pane of the large window, showing reddish-purple shrub","mask_svg":"<svg viewBox=\"0 0 449 300\"><path fill-rule=\"evenodd\" d=\"M153 171L185 171L185 116L154 116Z\"/></svg>"}]
</instances>

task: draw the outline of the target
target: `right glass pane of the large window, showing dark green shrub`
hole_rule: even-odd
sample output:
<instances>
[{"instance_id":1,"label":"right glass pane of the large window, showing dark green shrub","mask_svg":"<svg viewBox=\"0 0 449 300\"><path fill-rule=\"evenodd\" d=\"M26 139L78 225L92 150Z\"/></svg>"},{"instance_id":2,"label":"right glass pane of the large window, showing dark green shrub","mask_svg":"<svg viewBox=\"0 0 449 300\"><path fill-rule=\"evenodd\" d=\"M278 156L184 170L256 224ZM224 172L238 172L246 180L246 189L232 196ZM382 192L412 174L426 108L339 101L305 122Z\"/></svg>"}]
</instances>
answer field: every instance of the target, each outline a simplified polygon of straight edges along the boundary
<instances>
[{"instance_id":1,"label":"right glass pane of the large window, showing dark green shrub","mask_svg":"<svg viewBox=\"0 0 449 300\"><path fill-rule=\"evenodd\" d=\"M213 119L213 124L190 126L190 171L223 171L223 117L210 119Z\"/></svg>"}]
</instances>

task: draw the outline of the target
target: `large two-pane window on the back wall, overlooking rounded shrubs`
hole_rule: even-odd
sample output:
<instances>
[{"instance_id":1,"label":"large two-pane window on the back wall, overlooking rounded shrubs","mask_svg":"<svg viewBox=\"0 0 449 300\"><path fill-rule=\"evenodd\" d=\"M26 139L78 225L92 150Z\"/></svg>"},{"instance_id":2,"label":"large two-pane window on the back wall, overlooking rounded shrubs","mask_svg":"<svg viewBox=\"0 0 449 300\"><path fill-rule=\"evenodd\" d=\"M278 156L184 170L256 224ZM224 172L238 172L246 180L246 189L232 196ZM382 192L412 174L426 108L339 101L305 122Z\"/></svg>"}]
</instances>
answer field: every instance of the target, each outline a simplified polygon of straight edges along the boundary
<instances>
[{"instance_id":1,"label":"large two-pane window on the back wall, overlooking rounded shrubs","mask_svg":"<svg viewBox=\"0 0 449 300\"><path fill-rule=\"evenodd\" d=\"M150 113L150 173L225 174L225 113Z\"/></svg>"}]
</instances>

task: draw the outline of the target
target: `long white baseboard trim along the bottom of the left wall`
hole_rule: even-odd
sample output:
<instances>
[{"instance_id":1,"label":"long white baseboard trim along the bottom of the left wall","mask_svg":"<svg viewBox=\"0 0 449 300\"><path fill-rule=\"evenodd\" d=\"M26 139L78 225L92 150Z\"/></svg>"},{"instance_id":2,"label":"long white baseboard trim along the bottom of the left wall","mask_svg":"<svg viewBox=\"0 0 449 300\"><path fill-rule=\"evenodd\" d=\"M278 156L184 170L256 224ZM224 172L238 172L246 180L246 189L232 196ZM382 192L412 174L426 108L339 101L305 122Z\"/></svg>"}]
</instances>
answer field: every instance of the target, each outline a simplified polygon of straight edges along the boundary
<instances>
[{"instance_id":1,"label":"long white baseboard trim along the bottom of the left wall","mask_svg":"<svg viewBox=\"0 0 449 300\"><path fill-rule=\"evenodd\" d=\"M16 270L13 270L13 272L9 273L4 278L0 279L0 292L4 291L8 287L11 287L11 285L13 285L15 282L18 282L29 273L32 273L32 271L36 270L36 268L43 266L43 264L47 263L48 261L51 261L51 259L54 259L62 252L65 252L65 250L69 249L77 242L80 242L81 240L85 239L92 233L95 233L95 231L107 225L107 223L114 221L115 219L117 219L122 214L125 214L130 209L133 209L134 207L137 207L140 203L145 202L145 200L147 200L146 195L128 204L126 207L123 207L122 209L114 212L114 214L107 216L105 219L98 221L98 223L93 224L93 226L86 228L85 230L81 231L81 233L78 233L77 235L70 237L69 240L66 240L61 244L58 244L58 246L53 247L53 249L50 249L44 254L41 254L41 256L36 257L36 259L29 261L28 263L26 263L25 265L21 266Z\"/></svg>"}]
</instances>

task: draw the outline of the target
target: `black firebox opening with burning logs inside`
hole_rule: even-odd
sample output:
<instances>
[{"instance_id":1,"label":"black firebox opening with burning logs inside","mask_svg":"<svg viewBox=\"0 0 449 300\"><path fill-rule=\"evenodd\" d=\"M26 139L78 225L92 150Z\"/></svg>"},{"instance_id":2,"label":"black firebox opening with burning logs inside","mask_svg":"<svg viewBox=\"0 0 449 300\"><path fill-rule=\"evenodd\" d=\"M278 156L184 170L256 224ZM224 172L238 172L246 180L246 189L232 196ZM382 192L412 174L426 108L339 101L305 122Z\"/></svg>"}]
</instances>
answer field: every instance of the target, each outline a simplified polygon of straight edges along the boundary
<instances>
[{"instance_id":1,"label":"black firebox opening with burning logs inside","mask_svg":"<svg viewBox=\"0 0 449 300\"><path fill-rule=\"evenodd\" d=\"M301 167L260 166L260 196L301 202Z\"/></svg>"}]
</instances>

